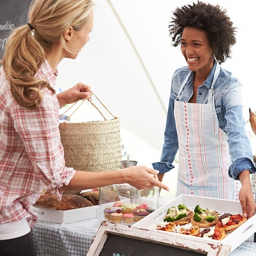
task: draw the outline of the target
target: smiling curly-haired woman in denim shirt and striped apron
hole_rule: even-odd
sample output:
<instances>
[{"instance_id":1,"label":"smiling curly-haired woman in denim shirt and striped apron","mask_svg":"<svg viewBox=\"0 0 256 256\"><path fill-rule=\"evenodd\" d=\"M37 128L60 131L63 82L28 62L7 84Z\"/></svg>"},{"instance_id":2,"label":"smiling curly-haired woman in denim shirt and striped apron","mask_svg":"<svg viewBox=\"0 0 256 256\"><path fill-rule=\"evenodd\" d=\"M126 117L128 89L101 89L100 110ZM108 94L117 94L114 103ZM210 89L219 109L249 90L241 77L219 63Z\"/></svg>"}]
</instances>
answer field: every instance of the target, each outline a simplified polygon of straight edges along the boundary
<instances>
[{"instance_id":1,"label":"smiling curly-haired woman in denim shirt and striped apron","mask_svg":"<svg viewBox=\"0 0 256 256\"><path fill-rule=\"evenodd\" d=\"M230 58L236 28L219 5L198 1L175 10L169 32L187 66L172 77L161 160L152 165L162 180L179 149L176 196L240 200L251 217L256 166L244 133L242 85L220 66Z\"/></svg>"}]
</instances>

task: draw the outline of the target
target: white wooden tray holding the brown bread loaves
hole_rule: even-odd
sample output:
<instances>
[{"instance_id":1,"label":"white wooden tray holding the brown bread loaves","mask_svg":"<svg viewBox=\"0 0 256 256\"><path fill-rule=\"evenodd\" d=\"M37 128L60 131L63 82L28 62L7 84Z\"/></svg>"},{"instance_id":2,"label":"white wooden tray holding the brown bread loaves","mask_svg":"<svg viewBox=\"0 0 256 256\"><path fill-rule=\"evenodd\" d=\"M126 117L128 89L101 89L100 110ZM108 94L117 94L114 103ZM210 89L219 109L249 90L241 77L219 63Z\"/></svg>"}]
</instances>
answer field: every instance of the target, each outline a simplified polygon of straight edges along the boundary
<instances>
[{"instance_id":1,"label":"white wooden tray holding the brown bread loaves","mask_svg":"<svg viewBox=\"0 0 256 256\"><path fill-rule=\"evenodd\" d=\"M98 208L99 206L95 205L79 209L59 211L33 206L30 207L30 209L38 215L38 219L55 223L70 223L96 218L96 209Z\"/></svg>"}]
</instances>

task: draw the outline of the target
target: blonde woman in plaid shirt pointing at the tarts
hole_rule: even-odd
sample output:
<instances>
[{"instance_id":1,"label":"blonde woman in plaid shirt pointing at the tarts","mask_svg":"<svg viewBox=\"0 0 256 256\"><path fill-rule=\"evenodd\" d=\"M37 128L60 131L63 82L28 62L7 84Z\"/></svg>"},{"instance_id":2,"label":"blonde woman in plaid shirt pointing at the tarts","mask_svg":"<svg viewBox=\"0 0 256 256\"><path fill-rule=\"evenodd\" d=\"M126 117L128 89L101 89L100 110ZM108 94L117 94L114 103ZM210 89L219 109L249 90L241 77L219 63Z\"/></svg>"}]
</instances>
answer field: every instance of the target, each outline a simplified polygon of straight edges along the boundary
<instances>
[{"instance_id":1,"label":"blonde woman in plaid shirt pointing at the tarts","mask_svg":"<svg viewBox=\"0 0 256 256\"><path fill-rule=\"evenodd\" d=\"M79 83L56 95L57 66L77 57L92 28L90 0L34 0L28 24L9 36L0 69L0 255L35 255L30 231L37 218L30 206L42 189L59 199L64 190L113 183L169 190L145 166L95 173L65 166L58 110L90 101L91 93Z\"/></svg>"}]
</instances>

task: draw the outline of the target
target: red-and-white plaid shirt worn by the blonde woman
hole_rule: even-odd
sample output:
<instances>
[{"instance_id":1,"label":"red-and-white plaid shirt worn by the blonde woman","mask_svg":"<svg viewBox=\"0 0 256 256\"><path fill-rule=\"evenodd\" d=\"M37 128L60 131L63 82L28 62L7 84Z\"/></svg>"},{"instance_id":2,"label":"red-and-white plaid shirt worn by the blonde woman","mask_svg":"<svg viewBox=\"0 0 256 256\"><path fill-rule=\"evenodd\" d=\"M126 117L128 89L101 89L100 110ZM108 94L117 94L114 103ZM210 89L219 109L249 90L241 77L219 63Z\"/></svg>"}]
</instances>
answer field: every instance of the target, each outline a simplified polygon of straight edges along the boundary
<instances>
[{"instance_id":1,"label":"red-and-white plaid shirt worn by the blonde woman","mask_svg":"<svg viewBox=\"0 0 256 256\"><path fill-rule=\"evenodd\" d=\"M35 77L54 87L57 70L45 60ZM0 224L28 218L30 227L37 215L31 210L47 189L61 199L58 188L75 175L67 168L59 132L59 103L55 94L43 88L37 109L23 108L15 102L0 68Z\"/></svg>"}]
</instances>

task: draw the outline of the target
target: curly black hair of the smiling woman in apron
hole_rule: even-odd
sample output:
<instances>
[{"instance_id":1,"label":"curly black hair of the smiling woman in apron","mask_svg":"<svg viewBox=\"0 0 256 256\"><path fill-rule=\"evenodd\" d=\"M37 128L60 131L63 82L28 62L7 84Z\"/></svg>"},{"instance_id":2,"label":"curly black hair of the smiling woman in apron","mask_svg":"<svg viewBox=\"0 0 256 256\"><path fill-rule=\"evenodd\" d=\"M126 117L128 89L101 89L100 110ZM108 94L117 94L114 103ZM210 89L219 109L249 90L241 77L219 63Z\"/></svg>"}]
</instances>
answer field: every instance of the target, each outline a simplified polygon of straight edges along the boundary
<instances>
[{"instance_id":1,"label":"curly black hair of the smiling woman in apron","mask_svg":"<svg viewBox=\"0 0 256 256\"><path fill-rule=\"evenodd\" d=\"M180 45L183 29L186 26L195 27L206 32L215 58L219 64L231 58L231 47L236 44L236 27L230 17L226 15L226 9L221 9L217 4L198 1L192 5L176 8L169 25L169 36L174 42L172 46Z\"/></svg>"}]
</instances>

